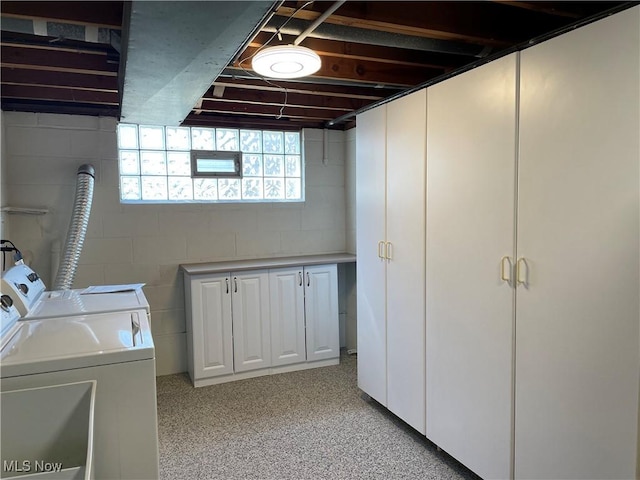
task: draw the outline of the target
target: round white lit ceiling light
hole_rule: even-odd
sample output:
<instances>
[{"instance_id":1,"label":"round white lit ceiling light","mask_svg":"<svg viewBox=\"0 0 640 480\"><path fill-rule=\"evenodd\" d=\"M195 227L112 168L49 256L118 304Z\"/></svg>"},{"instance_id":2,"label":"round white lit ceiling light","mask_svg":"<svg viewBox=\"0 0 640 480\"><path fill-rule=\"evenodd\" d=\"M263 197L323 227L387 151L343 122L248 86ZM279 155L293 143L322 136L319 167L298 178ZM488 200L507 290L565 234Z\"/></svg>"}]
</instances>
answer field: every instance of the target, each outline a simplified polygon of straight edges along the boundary
<instances>
[{"instance_id":1,"label":"round white lit ceiling light","mask_svg":"<svg viewBox=\"0 0 640 480\"><path fill-rule=\"evenodd\" d=\"M316 52L300 45L267 47L251 60L253 70L269 78L306 77L320 70L321 65Z\"/></svg>"}]
</instances>

